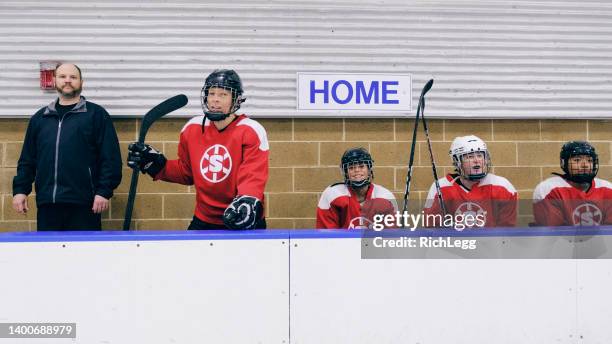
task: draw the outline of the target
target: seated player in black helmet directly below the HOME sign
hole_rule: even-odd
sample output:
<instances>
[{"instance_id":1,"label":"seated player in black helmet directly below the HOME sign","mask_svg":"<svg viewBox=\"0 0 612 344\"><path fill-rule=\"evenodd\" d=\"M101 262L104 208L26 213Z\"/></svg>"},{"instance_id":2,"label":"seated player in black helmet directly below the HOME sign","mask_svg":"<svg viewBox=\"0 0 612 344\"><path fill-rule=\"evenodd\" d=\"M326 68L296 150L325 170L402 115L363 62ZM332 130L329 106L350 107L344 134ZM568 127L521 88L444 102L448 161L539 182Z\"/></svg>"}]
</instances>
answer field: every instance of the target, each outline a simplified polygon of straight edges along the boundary
<instances>
[{"instance_id":1,"label":"seated player in black helmet directly below the HOME sign","mask_svg":"<svg viewBox=\"0 0 612 344\"><path fill-rule=\"evenodd\" d=\"M317 207L317 228L372 228L376 214L397 212L395 196L372 183L372 156L365 148L348 149L340 160L343 183L323 191Z\"/></svg>"}]
</instances>

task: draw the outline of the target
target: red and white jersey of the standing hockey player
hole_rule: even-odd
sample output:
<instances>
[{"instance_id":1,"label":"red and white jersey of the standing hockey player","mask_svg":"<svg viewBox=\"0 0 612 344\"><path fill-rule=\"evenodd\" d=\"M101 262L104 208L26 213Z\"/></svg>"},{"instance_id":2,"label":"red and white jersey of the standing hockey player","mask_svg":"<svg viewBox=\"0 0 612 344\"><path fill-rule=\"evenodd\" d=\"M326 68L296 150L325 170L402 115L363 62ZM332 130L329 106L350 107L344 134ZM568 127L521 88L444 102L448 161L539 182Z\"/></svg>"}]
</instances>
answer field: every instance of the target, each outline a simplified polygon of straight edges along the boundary
<instances>
[{"instance_id":1,"label":"red and white jersey of the standing hockey player","mask_svg":"<svg viewBox=\"0 0 612 344\"><path fill-rule=\"evenodd\" d=\"M168 160L155 180L195 185L196 217L220 225L225 208L236 195L263 202L268 156L266 130L258 122L240 115L219 131L210 120L198 116L181 130L178 159Z\"/></svg>"}]
</instances>

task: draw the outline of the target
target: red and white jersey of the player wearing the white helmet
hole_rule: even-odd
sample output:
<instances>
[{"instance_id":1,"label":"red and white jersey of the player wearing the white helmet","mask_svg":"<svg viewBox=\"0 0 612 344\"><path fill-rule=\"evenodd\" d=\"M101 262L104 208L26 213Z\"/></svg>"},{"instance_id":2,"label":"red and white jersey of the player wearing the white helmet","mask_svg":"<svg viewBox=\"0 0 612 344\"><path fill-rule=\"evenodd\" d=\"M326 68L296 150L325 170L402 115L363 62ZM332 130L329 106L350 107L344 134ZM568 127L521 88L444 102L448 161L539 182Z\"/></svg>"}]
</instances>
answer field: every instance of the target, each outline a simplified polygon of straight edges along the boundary
<instances>
[{"instance_id":1,"label":"red and white jersey of the player wearing the white helmet","mask_svg":"<svg viewBox=\"0 0 612 344\"><path fill-rule=\"evenodd\" d=\"M447 214L465 217L484 217L485 227L513 227L516 225L518 195L508 179L487 174L468 190L457 181L459 176L448 174L440 178L440 192ZM423 212L442 214L435 183L431 184Z\"/></svg>"}]
</instances>

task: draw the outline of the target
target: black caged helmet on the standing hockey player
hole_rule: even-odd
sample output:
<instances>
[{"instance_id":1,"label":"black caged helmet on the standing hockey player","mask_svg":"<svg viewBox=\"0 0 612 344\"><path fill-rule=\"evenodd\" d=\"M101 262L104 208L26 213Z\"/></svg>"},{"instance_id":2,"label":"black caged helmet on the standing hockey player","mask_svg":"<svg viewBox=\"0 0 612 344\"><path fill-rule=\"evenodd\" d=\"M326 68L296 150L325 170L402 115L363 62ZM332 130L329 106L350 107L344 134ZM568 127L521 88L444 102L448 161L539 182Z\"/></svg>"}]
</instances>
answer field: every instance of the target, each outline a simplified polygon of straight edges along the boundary
<instances>
[{"instance_id":1,"label":"black caged helmet on the standing hockey player","mask_svg":"<svg viewBox=\"0 0 612 344\"><path fill-rule=\"evenodd\" d=\"M228 113L211 112L208 109L207 97L208 90L211 87L218 87L232 92L232 106L230 107L230 111ZM234 70L217 69L210 73L210 75L204 81L204 86L202 86L202 91L200 92L202 110L204 110L204 115L206 115L206 118L210 119L211 121L222 121L230 114L238 111L240 104L242 104L242 102L245 100L245 98L242 97L242 91L242 81L240 80L238 73L236 73Z\"/></svg>"}]
</instances>

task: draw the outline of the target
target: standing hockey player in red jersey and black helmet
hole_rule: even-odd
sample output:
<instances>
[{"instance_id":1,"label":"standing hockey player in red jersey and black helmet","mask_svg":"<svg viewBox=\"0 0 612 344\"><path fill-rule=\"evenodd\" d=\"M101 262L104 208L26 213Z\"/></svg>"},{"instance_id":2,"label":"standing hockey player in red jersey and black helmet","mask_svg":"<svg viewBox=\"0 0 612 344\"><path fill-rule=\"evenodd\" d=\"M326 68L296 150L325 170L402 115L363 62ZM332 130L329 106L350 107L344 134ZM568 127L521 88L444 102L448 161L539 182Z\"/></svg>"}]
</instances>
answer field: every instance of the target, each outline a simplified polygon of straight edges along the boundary
<instances>
[{"instance_id":1,"label":"standing hockey player in red jersey and black helmet","mask_svg":"<svg viewBox=\"0 0 612 344\"><path fill-rule=\"evenodd\" d=\"M146 144L129 146L128 165L154 180L195 185L195 215L188 229L264 229L269 145L261 124L236 111L245 100L233 70L216 70L201 92L204 116L181 130L178 159L166 160Z\"/></svg>"}]
</instances>

